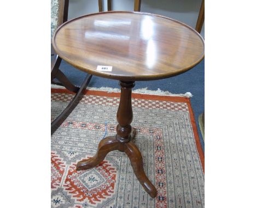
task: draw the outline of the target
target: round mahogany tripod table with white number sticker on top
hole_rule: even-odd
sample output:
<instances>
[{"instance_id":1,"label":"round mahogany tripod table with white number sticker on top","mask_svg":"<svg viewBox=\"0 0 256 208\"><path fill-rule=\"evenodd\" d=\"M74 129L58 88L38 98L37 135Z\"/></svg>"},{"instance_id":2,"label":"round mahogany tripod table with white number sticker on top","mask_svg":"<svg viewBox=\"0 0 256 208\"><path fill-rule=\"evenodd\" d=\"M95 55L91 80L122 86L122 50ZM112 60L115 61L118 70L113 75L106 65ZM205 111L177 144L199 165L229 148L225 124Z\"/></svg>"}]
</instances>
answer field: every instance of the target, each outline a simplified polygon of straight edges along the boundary
<instances>
[{"instance_id":1,"label":"round mahogany tripod table with white number sticker on top","mask_svg":"<svg viewBox=\"0 0 256 208\"><path fill-rule=\"evenodd\" d=\"M53 46L75 68L118 79L121 87L116 136L102 139L95 156L78 162L77 170L97 166L110 151L123 151L141 185L150 197L156 197L156 188L144 173L141 152L131 141L131 134L136 133L130 125L131 89L135 81L167 78L193 68L204 57L200 34L168 17L108 11L63 23L53 36Z\"/></svg>"}]
</instances>

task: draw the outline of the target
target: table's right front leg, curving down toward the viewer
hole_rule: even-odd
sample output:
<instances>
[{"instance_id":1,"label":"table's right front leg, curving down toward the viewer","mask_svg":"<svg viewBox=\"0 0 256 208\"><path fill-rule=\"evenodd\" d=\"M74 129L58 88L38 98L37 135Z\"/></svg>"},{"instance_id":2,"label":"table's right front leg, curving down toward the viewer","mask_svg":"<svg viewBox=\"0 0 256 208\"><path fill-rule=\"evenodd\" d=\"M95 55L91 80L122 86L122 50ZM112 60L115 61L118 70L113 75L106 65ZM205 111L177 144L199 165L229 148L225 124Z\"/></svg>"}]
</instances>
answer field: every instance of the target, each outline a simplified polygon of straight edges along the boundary
<instances>
[{"instance_id":1,"label":"table's right front leg, curving down toward the viewer","mask_svg":"<svg viewBox=\"0 0 256 208\"><path fill-rule=\"evenodd\" d=\"M133 142L124 144L126 146L125 153L130 158L133 171L150 197L155 198L157 191L152 182L148 179L143 169L142 155L137 146Z\"/></svg>"}]
</instances>

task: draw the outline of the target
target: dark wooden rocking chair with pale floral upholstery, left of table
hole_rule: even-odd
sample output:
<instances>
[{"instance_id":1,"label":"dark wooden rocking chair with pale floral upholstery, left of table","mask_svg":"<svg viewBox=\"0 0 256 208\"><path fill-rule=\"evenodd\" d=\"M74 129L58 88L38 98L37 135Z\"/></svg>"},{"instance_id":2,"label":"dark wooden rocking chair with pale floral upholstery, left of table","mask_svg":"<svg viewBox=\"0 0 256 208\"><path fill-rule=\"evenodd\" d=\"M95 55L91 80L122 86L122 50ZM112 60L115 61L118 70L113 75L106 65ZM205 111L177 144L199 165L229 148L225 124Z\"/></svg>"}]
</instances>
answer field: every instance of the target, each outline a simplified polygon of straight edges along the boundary
<instances>
[{"instance_id":1,"label":"dark wooden rocking chair with pale floral upholstery, left of table","mask_svg":"<svg viewBox=\"0 0 256 208\"><path fill-rule=\"evenodd\" d=\"M57 27L67 21L68 17L68 0L51 0L51 38ZM80 87L73 85L68 78L59 69L61 64L61 58L55 54L53 47L51 46L51 55L54 56L51 62L51 83L63 85L68 90L76 93L68 106L62 111L62 113L51 123L51 134L53 134L68 115L77 106L79 101L83 97L84 90L88 86L92 75L87 75ZM56 82L57 79L57 82Z\"/></svg>"}]
</instances>

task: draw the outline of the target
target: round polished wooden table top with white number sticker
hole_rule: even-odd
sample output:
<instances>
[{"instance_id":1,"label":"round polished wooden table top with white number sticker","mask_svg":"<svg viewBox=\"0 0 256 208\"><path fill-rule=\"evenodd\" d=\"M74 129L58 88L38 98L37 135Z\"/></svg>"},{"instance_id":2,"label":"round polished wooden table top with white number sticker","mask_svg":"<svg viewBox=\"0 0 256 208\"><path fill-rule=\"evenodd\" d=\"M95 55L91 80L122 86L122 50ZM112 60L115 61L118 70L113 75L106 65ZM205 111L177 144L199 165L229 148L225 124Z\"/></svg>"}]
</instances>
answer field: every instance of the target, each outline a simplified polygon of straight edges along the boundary
<instances>
[{"instance_id":1,"label":"round polished wooden table top with white number sticker","mask_svg":"<svg viewBox=\"0 0 256 208\"><path fill-rule=\"evenodd\" d=\"M168 17L108 11L65 22L53 36L53 47L89 74L143 81L193 68L203 59L205 46L193 28Z\"/></svg>"}]
</instances>

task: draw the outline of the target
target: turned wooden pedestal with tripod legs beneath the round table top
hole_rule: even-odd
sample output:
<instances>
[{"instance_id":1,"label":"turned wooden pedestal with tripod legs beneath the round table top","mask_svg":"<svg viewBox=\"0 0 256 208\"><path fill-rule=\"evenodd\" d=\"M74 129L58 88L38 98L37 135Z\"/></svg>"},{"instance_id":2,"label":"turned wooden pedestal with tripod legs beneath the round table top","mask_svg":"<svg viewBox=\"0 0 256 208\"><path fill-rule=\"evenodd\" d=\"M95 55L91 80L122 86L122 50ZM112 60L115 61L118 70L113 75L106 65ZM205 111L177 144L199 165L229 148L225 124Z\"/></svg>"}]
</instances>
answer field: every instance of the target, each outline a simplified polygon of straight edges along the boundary
<instances>
[{"instance_id":1,"label":"turned wooden pedestal with tripod legs beneath the round table top","mask_svg":"<svg viewBox=\"0 0 256 208\"><path fill-rule=\"evenodd\" d=\"M78 162L77 170L86 170L97 166L110 151L119 150L125 152L130 158L137 179L150 197L154 198L157 193L156 188L144 172L141 152L131 141L131 137L136 133L136 130L132 130L130 125L132 122L131 89L135 86L135 82L120 81L119 85L121 86L121 97L117 112L117 135L102 139L98 144L95 156Z\"/></svg>"}]
</instances>

